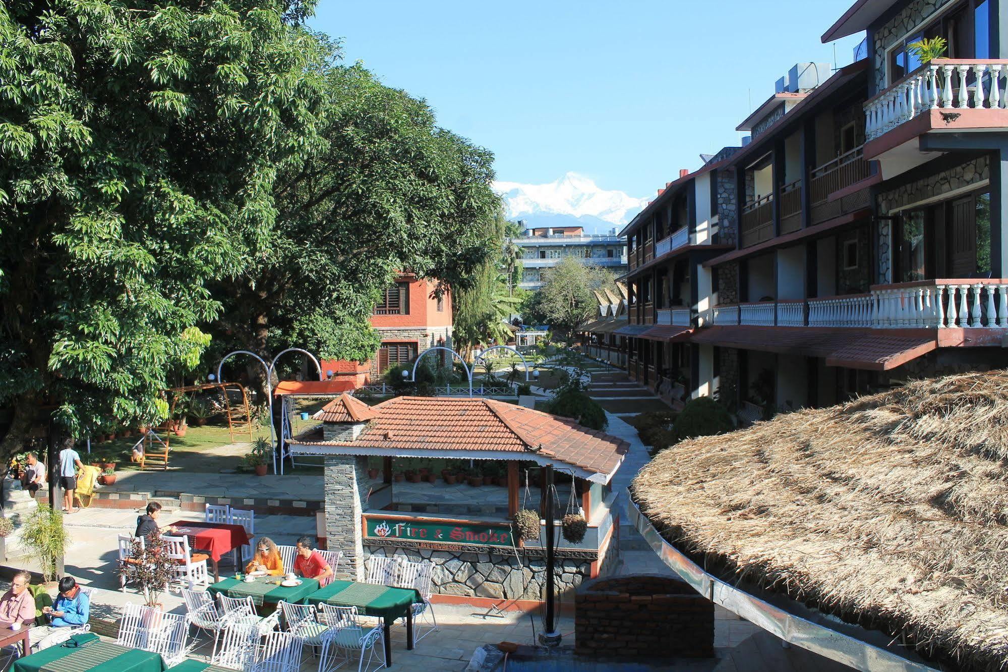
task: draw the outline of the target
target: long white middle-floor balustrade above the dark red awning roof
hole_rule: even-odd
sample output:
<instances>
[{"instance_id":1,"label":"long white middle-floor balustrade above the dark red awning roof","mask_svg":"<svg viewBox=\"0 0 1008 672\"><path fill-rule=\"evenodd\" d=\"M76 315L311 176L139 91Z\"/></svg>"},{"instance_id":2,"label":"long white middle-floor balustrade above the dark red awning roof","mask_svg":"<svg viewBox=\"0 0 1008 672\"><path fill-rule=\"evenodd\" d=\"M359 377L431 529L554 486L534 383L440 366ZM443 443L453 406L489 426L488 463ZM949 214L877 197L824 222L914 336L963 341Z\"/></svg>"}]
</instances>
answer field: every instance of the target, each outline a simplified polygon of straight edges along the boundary
<instances>
[{"instance_id":1,"label":"long white middle-floor balustrade above the dark red awning roof","mask_svg":"<svg viewBox=\"0 0 1008 672\"><path fill-rule=\"evenodd\" d=\"M1008 279L876 285L870 294L714 307L715 325L1008 330Z\"/></svg>"}]
</instances>

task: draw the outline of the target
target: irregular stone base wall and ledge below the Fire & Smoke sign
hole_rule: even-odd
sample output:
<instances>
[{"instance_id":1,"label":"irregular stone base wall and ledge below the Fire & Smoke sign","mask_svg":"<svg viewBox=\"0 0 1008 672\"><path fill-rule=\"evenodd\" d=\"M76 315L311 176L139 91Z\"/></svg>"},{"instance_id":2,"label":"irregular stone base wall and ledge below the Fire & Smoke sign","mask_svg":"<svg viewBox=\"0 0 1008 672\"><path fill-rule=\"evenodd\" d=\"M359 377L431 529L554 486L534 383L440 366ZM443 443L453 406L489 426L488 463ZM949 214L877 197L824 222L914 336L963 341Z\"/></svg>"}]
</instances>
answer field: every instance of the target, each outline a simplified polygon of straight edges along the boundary
<instances>
[{"instance_id":1,"label":"irregular stone base wall and ledge below the Fire & Smoke sign","mask_svg":"<svg viewBox=\"0 0 1008 672\"><path fill-rule=\"evenodd\" d=\"M364 552L367 556L403 555L413 562L433 561L432 583L435 593L496 599L544 598L546 560L543 557L525 556L521 549L515 555L365 546ZM607 562L615 564L611 558ZM562 558L562 552L557 552L557 589L564 592L577 588L591 575L591 565L590 559Z\"/></svg>"}]
</instances>

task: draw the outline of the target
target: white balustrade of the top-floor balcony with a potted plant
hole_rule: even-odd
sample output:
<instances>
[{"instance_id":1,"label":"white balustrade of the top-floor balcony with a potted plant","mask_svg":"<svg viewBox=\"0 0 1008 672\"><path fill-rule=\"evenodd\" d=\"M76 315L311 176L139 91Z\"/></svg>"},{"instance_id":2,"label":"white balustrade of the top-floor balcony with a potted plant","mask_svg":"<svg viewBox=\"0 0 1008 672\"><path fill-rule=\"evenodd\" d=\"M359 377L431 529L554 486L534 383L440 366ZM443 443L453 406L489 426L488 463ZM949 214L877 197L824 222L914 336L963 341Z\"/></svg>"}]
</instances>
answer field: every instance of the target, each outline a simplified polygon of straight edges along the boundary
<instances>
[{"instance_id":1,"label":"white balustrade of the top-floor balcony with a potted plant","mask_svg":"<svg viewBox=\"0 0 1008 672\"><path fill-rule=\"evenodd\" d=\"M935 108L1005 109L1008 61L934 59L865 103L865 137L872 140Z\"/></svg>"}]
</instances>

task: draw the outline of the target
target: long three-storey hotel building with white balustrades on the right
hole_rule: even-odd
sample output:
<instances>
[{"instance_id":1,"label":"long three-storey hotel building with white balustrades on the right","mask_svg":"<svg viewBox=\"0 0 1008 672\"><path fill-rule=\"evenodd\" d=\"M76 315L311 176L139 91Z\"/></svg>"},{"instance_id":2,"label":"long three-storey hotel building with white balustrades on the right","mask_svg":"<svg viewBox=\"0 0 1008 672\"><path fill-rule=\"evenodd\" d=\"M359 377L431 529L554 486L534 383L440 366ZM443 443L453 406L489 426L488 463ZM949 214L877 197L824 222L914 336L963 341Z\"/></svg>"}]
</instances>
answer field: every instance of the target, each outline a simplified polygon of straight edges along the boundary
<instances>
[{"instance_id":1,"label":"long three-storey hotel building with white balustrades on the right","mask_svg":"<svg viewBox=\"0 0 1008 672\"><path fill-rule=\"evenodd\" d=\"M623 231L637 379L755 419L1008 364L1008 8L859 0L823 39L860 31Z\"/></svg>"}]
</instances>

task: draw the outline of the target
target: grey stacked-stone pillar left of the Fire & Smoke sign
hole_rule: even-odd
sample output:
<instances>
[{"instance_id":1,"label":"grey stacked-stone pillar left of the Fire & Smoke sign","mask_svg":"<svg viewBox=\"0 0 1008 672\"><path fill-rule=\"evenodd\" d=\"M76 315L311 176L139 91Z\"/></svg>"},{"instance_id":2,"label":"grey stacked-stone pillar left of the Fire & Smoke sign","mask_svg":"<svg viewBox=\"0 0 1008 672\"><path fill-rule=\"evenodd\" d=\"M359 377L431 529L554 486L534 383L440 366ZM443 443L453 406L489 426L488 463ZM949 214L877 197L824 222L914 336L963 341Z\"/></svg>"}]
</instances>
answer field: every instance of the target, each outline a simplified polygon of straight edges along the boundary
<instances>
[{"instance_id":1,"label":"grey stacked-stone pillar left of the Fire & Smoke sign","mask_svg":"<svg viewBox=\"0 0 1008 672\"><path fill-rule=\"evenodd\" d=\"M367 495L368 458L326 457L326 536L331 551L343 551L337 578L364 580L361 514Z\"/></svg>"}]
</instances>

